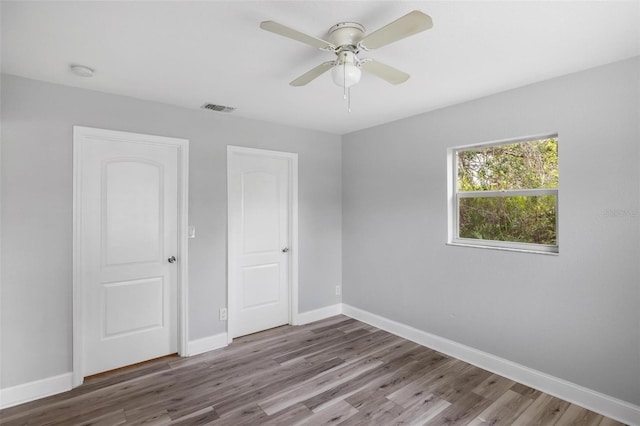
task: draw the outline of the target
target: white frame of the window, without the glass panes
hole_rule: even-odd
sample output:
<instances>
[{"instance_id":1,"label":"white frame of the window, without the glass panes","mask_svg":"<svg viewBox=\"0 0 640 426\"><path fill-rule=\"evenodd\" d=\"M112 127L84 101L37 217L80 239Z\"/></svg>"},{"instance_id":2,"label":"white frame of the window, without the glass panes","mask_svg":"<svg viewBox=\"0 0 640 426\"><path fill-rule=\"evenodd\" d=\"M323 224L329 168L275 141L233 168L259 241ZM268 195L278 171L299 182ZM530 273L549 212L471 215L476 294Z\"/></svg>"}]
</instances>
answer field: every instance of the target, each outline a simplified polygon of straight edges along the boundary
<instances>
[{"instance_id":1,"label":"white frame of the window, without the glass panes","mask_svg":"<svg viewBox=\"0 0 640 426\"><path fill-rule=\"evenodd\" d=\"M500 191L465 191L458 192L458 152L470 151L474 149L488 148L498 145L509 145L522 142L532 142L540 139L558 138L557 133L543 134L536 136L528 136L517 139L504 139L499 141L492 141L480 144L465 145L455 148L449 148L447 150L447 169L449 178L447 179L447 192L448 192L448 210L449 210L449 232L448 242L449 245L465 246L465 247L480 247L497 250L510 250L529 253L543 253L543 254L558 254L559 252L559 185L556 188L539 188L539 189L515 189L515 190L500 190ZM462 198L488 198L488 197L515 197L515 196L544 196L552 195L556 199L556 244L534 244L534 243L518 243L511 241L499 241L499 240L483 240L477 238L462 238L460 237L460 199Z\"/></svg>"}]
</instances>

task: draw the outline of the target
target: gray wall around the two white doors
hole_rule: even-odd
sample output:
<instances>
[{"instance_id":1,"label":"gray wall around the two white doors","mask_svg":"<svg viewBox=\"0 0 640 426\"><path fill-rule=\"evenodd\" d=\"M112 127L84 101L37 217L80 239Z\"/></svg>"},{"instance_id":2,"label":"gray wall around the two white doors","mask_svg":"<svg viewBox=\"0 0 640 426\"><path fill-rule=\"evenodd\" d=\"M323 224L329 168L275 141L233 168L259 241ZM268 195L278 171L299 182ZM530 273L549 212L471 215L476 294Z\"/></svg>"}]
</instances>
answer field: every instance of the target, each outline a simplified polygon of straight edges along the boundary
<instances>
[{"instance_id":1,"label":"gray wall around the two white doors","mask_svg":"<svg viewBox=\"0 0 640 426\"><path fill-rule=\"evenodd\" d=\"M72 126L189 139L189 339L226 330L226 146L298 153L301 312L340 302L340 136L2 76L2 388L71 371Z\"/></svg>"}]
</instances>

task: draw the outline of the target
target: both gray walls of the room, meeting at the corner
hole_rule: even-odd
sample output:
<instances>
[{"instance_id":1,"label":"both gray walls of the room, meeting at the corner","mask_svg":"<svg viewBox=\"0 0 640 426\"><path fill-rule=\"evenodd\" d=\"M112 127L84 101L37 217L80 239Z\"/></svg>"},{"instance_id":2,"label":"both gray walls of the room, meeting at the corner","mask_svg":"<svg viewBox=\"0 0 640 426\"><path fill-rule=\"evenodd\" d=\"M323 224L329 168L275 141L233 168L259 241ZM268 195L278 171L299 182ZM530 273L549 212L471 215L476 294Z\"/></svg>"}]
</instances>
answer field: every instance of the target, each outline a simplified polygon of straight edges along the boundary
<instances>
[{"instance_id":1,"label":"both gray walls of the room, meeting at the corner","mask_svg":"<svg viewBox=\"0 0 640 426\"><path fill-rule=\"evenodd\" d=\"M191 140L190 339L225 330L226 145L298 152L302 312L339 302L342 279L352 306L640 404L639 74L636 58L550 80L346 135L342 152L339 136L3 76L0 386L71 370L83 125ZM446 149L551 132L560 254L445 245Z\"/></svg>"}]
</instances>

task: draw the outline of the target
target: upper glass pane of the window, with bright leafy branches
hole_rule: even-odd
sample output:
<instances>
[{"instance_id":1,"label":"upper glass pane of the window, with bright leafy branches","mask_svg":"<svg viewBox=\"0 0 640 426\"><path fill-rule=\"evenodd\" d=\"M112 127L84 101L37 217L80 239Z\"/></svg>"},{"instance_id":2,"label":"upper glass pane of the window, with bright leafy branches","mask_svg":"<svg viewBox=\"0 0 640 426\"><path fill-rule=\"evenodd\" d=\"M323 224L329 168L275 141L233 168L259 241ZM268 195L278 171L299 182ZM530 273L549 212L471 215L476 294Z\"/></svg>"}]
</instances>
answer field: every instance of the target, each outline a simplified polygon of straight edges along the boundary
<instances>
[{"instance_id":1,"label":"upper glass pane of the window, with bright leafy branches","mask_svg":"<svg viewBox=\"0 0 640 426\"><path fill-rule=\"evenodd\" d=\"M458 151L458 191L558 187L558 139Z\"/></svg>"}]
</instances>

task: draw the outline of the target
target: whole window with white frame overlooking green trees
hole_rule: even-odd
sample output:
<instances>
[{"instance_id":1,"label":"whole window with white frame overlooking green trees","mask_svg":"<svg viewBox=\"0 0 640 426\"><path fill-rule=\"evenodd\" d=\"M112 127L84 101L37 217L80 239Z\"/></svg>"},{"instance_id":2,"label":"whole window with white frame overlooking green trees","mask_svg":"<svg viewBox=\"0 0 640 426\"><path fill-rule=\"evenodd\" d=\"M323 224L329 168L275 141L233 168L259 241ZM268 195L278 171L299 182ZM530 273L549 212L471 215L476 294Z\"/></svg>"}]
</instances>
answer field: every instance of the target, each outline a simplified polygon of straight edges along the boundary
<instances>
[{"instance_id":1,"label":"whole window with white frame overlooking green trees","mask_svg":"<svg viewBox=\"0 0 640 426\"><path fill-rule=\"evenodd\" d=\"M449 242L558 252L557 135L451 149Z\"/></svg>"}]
</instances>

